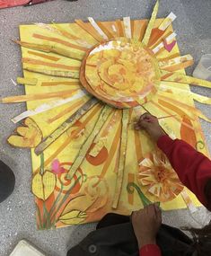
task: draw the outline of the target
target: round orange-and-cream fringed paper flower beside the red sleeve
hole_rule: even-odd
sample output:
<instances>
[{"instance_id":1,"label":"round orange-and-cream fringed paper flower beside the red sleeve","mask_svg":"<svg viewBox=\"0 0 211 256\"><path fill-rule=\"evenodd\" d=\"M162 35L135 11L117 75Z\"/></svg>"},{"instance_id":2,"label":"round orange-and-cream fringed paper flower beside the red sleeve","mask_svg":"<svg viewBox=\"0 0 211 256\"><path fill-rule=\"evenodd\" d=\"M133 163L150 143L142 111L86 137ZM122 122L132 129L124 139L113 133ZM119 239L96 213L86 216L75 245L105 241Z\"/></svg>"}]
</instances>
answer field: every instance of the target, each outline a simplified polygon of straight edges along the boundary
<instances>
[{"instance_id":1,"label":"round orange-and-cream fringed paper flower beside the red sleeve","mask_svg":"<svg viewBox=\"0 0 211 256\"><path fill-rule=\"evenodd\" d=\"M146 195L154 196L154 201L171 201L183 190L177 173L161 152L148 154L139 163L137 180L145 187Z\"/></svg>"}]
</instances>

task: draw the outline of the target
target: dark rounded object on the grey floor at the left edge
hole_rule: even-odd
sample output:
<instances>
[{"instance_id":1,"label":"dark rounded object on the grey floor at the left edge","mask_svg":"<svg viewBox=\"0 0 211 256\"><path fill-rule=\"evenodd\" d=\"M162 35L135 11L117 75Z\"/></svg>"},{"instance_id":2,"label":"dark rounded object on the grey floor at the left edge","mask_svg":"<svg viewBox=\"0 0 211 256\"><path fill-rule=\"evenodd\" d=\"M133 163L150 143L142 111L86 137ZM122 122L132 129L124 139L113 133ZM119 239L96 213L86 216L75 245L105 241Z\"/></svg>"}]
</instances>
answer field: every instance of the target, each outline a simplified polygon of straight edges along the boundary
<instances>
[{"instance_id":1,"label":"dark rounded object on the grey floor at the left edge","mask_svg":"<svg viewBox=\"0 0 211 256\"><path fill-rule=\"evenodd\" d=\"M15 176L13 171L0 161L0 203L13 193L14 183Z\"/></svg>"}]
</instances>

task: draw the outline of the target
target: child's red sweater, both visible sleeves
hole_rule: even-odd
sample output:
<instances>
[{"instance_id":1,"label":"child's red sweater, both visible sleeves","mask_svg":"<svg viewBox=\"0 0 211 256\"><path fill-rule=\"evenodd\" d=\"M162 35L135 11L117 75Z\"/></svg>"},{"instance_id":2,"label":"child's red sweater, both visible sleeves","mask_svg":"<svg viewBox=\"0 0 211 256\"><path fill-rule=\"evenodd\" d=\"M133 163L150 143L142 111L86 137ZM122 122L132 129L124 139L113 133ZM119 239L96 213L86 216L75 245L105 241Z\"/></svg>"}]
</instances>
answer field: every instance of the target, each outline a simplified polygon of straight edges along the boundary
<instances>
[{"instance_id":1,"label":"child's red sweater, both visible sleeves","mask_svg":"<svg viewBox=\"0 0 211 256\"><path fill-rule=\"evenodd\" d=\"M185 141L180 139L172 140L167 135L158 139L157 146L169 158L180 181L207 207L204 190L207 181L211 179L211 161ZM157 245L148 244L140 249L139 255L161 256L162 254Z\"/></svg>"}]
</instances>

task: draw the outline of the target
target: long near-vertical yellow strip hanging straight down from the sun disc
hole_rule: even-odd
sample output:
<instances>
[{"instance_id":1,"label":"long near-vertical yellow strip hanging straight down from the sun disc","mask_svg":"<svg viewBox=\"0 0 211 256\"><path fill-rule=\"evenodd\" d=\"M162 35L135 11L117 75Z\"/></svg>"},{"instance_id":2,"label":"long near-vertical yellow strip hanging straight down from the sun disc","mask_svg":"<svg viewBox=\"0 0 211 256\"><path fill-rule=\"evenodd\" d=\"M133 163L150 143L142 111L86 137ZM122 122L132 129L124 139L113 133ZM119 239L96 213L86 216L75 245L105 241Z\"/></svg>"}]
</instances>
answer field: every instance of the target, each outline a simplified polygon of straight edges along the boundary
<instances>
[{"instance_id":1,"label":"long near-vertical yellow strip hanging straight down from the sun disc","mask_svg":"<svg viewBox=\"0 0 211 256\"><path fill-rule=\"evenodd\" d=\"M125 161L127 152L127 127L129 123L129 110L122 110L122 128L121 128L121 140L120 140L120 154L119 154L119 170L117 173L117 180L115 186L114 197L112 201L112 208L116 209L119 205L120 194L123 185Z\"/></svg>"}]
</instances>

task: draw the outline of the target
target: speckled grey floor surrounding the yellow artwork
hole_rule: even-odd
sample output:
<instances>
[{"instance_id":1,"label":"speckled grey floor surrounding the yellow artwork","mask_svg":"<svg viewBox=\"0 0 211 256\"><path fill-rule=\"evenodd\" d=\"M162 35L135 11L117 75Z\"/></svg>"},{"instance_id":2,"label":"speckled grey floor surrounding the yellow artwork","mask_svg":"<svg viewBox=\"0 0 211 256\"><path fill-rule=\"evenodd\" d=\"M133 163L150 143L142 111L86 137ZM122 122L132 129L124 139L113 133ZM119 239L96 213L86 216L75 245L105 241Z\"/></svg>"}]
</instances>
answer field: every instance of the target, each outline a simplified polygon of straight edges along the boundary
<instances>
[{"instance_id":1,"label":"speckled grey floor surrounding the yellow artwork","mask_svg":"<svg viewBox=\"0 0 211 256\"><path fill-rule=\"evenodd\" d=\"M161 0L159 17L171 11L178 18L173 22L178 34L182 54L189 53L196 63L206 53L211 53L211 1L210 0ZM17 7L0 10L0 96L23 93L22 87L15 87L10 79L22 75L21 52L11 40L19 36L19 24L32 22L74 22L75 18L85 20L92 16L96 20L111 20L129 15L132 19L147 18L152 12L154 0L78 0L67 2L57 0L32 7ZM192 74L194 66L188 69ZM193 88L193 91L211 97L211 90ZM198 107L211 118L210 108ZM37 231L35 206L31 195L31 157L26 150L14 149L5 143L6 137L15 128L10 121L13 116L25 110L24 104L0 106L0 159L15 173L16 185L13 195L0 204L0 255L8 255L14 245L26 238L37 244L47 255L64 256L66 248L81 241L94 228L94 224L72 226L50 231ZM210 124L202 122L211 149ZM207 211L201 208L194 218L204 223ZM163 222L175 226L198 225L189 211L163 213Z\"/></svg>"}]
</instances>

